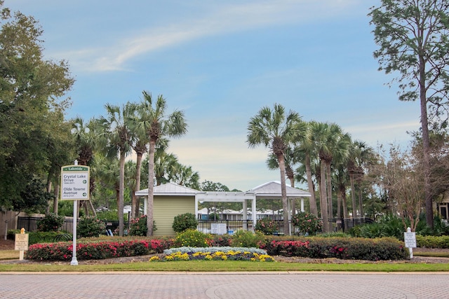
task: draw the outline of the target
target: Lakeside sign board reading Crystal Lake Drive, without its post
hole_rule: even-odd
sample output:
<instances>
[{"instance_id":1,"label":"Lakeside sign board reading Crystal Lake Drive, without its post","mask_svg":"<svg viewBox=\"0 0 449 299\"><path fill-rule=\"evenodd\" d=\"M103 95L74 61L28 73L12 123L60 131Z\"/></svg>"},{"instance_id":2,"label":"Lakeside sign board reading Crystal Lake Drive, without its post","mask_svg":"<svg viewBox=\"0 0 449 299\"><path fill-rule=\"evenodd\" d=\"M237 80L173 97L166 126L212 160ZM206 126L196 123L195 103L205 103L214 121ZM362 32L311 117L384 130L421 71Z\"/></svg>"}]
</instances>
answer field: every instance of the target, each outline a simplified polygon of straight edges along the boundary
<instances>
[{"instance_id":1,"label":"Lakeside sign board reading Crystal Lake Drive, without its post","mask_svg":"<svg viewBox=\"0 0 449 299\"><path fill-rule=\"evenodd\" d=\"M61 167L61 200L89 199L89 167L68 165Z\"/></svg>"}]
</instances>

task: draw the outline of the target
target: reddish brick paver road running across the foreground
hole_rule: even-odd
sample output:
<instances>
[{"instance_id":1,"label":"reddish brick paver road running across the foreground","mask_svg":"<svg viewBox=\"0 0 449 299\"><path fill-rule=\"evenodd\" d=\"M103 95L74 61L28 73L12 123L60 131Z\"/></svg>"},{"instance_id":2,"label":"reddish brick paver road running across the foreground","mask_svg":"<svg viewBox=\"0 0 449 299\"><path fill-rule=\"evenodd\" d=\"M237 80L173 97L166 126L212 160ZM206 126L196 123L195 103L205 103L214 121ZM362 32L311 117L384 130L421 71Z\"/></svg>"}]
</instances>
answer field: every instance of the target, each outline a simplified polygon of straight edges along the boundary
<instances>
[{"instance_id":1,"label":"reddish brick paver road running across the foreground","mask_svg":"<svg viewBox=\"0 0 449 299\"><path fill-rule=\"evenodd\" d=\"M0 273L0 298L449 298L445 273Z\"/></svg>"}]
</instances>

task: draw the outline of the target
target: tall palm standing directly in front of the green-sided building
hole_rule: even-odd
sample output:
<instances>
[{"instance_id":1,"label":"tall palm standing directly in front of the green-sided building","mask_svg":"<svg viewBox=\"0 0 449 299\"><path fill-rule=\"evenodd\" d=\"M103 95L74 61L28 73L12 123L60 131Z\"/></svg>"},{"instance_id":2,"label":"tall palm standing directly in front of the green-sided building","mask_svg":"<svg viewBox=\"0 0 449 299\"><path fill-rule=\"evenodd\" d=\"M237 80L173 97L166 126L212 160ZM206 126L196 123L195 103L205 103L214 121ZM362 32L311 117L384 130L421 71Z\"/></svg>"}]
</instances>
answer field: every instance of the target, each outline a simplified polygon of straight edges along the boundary
<instances>
[{"instance_id":1,"label":"tall palm standing directly in front of the green-sided building","mask_svg":"<svg viewBox=\"0 0 449 299\"><path fill-rule=\"evenodd\" d=\"M163 137L181 137L187 133L184 112L175 110L166 116L166 99L162 95L157 97L153 107L152 95L142 92L143 101L138 108L139 118L135 122L135 129L146 132L149 139L148 155L148 197L147 197L147 236L153 235L153 202L154 202L154 151L156 143Z\"/></svg>"}]
</instances>

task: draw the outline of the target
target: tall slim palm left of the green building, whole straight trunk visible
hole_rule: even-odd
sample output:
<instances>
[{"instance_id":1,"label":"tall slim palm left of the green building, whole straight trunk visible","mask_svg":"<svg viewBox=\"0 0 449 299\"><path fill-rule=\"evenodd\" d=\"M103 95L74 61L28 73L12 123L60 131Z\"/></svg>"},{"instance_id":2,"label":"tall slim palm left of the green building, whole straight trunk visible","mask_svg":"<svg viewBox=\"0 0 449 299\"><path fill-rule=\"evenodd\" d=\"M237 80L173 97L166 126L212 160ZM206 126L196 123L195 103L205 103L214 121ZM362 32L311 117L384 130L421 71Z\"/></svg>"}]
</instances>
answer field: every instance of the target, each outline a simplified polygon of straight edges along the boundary
<instances>
[{"instance_id":1,"label":"tall slim palm left of the green building, whole straight trunk visible","mask_svg":"<svg viewBox=\"0 0 449 299\"><path fill-rule=\"evenodd\" d=\"M120 181L119 181L119 235L123 236L123 201L125 190L125 158L133 146L133 132L129 120L135 113L135 104L127 102L120 109L112 104L105 105L107 118L99 119L103 127L102 142L105 144L106 156L116 158L119 155Z\"/></svg>"}]
</instances>

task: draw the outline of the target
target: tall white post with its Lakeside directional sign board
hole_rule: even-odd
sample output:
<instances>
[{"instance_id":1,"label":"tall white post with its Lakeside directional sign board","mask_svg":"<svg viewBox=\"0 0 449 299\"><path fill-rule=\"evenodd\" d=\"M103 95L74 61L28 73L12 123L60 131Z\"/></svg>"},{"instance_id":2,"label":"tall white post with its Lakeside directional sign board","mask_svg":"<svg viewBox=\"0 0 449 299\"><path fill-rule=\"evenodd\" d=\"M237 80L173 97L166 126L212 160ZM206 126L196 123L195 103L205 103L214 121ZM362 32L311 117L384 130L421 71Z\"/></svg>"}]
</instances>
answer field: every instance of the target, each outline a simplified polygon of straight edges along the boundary
<instances>
[{"instance_id":1,"label":"tall white post with its Lakeside directional sign board","mask_svg":"<svg viewBox=\"0 0 449 299\"><path fill-rule=\"evenodd\" d=\"M76 217L78 216L78 200L89 199L90 189L89 167L74 165L61 167L61 200L73 200L73 251L70 265L78 265L76 260Z\"/></svg>"}]
</instances>

